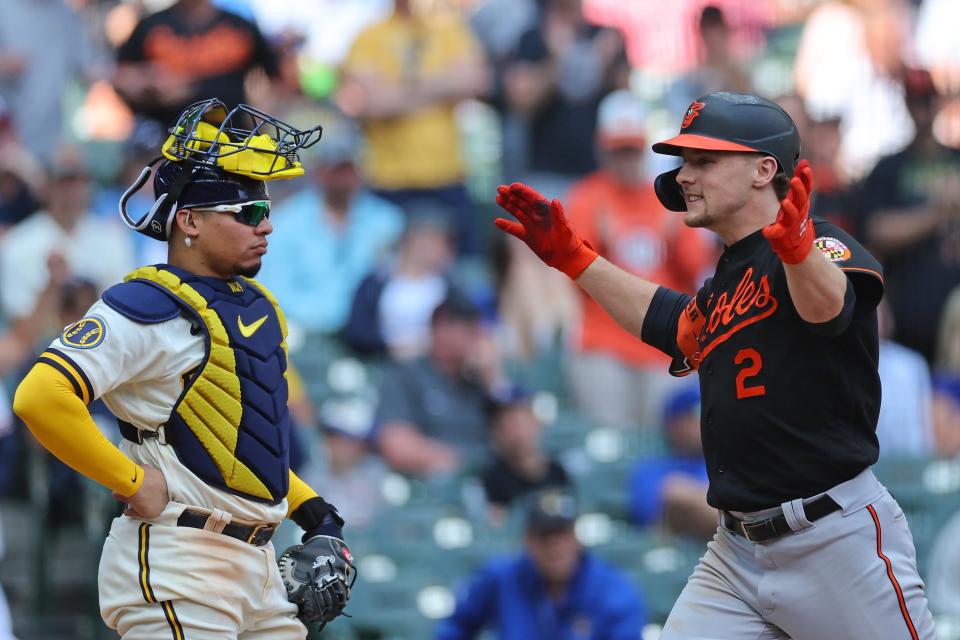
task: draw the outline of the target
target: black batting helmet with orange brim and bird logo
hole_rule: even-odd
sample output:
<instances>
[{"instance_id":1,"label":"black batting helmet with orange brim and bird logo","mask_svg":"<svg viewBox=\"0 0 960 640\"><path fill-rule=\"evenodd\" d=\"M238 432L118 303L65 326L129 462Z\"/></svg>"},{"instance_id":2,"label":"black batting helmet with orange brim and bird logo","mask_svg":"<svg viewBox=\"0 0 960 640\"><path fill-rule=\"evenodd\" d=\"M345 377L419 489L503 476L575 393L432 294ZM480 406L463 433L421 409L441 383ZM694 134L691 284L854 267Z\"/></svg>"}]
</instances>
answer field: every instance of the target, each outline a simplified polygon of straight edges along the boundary
<instances>
[{"instance_id":1,"label":"black batting helmet with orange brim and bird logo","mask_svg":"<svg viewBox=\"0 0 960 640\"><path fill-rule=\"evenodd\" d=\"M800 134L775 102L749 93L711 93L690 103L678 135L653 145L655 152L671 156L683 149L764 153L792 175L800 160ZM687 210L679 173L679 168L661 173L654 182L657 197L671 211Z\"/></svg>"}]
</instances>

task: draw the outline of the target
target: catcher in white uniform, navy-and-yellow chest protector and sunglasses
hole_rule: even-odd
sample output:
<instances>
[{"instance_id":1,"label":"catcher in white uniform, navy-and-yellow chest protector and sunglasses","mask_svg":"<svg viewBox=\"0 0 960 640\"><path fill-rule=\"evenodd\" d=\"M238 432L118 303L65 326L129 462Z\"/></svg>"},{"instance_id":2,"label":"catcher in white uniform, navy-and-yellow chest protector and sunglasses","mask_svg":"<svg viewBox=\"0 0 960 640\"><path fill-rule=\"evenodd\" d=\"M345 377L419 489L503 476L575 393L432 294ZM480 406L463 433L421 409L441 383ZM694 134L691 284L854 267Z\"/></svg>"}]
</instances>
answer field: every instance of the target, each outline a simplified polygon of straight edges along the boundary
<instances>
[{"instance_id":1,"label":"catcher in white uniform, navy-and-yellow chest protector and sunglasses","mask_svg":"<svg viewBox=\"0 0 960 640\"><path fill-rule=\"evenodd\" d=\"M319 137L245 105L185 110L120 201L129 226L169 243L168 264L107 289L17 389L37 440L127 505L99 571L101 615L124 640L304 638L349 598L343 520L289 468L286 325L252 279L266 182L302 175L297 151ZM134 220L127 200L151 172L155 204ZM120 448L90 418L96 398ZM306 533L278 570L284 517Z\"/></svg>"}]
</instances>

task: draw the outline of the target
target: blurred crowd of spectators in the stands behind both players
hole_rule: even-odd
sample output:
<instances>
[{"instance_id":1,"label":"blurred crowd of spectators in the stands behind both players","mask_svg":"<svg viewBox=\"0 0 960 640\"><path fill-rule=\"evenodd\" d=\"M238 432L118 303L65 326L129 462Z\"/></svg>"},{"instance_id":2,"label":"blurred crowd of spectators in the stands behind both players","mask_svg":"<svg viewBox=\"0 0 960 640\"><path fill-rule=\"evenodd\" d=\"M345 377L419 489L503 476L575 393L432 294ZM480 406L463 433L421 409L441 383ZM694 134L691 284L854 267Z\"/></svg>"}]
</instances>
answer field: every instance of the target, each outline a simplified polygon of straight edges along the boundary
<instances>
[{"instance_id":1,"label":"blurred crowd of spectators in the stands behind both players","mask_svg":"<svg viewBox=\"0 0 960 640\"><path fill-rule=\"evenodd\" d=\"M491 224L495 185L526 182L561 198L612 262L695 292L720 247L660 206L652 177L673 159L650 144L673 135L700 95L748 91L782 104L813 166L813 215L883 263L881 457L960 456L955 0L3 6L7 390L103 288L165 260L162 243L122 227L117 203L183 107L217 97L322 124L301 158L307 177L271 183L275 231L258 276L290 325L295 468L340 507L348 541L376 527L396 477L476 479L483 526L507 526L511 505L526 505L522 557L481 569L437 637L511 621L521 626L503 637L535 637L518 612L527 601L502 595L530 576L553 603L582 604L565 591L574 584L619 584L572 535L564 491L575 492L583 465L550 444L558 413L659 443L630 461L622 507L636 527L698 540L716 527L696 387ZM149 192L128 210L146 213ZM5 394L0 385L0 495L36 500L28 461L40 454ZM109 416L102 422L115 435ZM82 521L76 496L90 487L52 461L43 473L48 524ZM931 585L935 613L960 613L957 575ZM479 601L493 583L500 600ZM603 616L621 616L618 607L636 614L591 637L639 637L643 595L631 589L618 593L635 607L583 607L595 629L613 625ZM556 606L556 629L581 620Z\"/></svg>"}]
</instances>

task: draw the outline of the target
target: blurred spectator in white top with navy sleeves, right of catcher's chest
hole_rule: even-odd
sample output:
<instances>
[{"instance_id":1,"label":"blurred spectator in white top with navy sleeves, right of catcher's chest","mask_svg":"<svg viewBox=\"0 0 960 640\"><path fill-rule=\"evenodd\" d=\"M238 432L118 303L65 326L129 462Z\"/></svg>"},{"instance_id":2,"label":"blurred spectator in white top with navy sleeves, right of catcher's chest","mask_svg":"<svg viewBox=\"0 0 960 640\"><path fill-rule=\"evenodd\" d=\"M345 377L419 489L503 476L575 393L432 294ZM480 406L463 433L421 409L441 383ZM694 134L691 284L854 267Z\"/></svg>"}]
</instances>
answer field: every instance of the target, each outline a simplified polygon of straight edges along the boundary
<instances>
[{"instance_id":1,"label":"blurred spectator in white top with navy sleeves, right of catcher's chest","mask_svg":"<svg viewBox=\"0 0 960 640\"><path fill-rule=\"evenodd\" d=\"M397 255L357 287L344 341L358 353L396 360L425 354L430 317L453 286L453 252L445 216L422 213L411 218Z\"/></svg>"}]
</instances>

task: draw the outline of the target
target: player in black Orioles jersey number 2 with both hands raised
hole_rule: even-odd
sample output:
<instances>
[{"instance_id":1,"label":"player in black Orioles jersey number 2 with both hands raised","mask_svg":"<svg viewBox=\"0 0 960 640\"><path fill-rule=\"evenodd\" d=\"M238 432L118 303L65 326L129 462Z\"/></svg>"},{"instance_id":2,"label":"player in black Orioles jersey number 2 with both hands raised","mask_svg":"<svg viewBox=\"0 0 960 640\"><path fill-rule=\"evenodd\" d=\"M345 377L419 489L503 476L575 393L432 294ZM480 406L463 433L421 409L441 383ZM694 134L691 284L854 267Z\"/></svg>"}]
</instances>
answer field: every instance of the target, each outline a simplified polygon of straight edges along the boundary
<instances>
[{"instance_id":1,"label":"player in black Orioles jersey number 2 with both hands raised","mask_svg":"<svg viewBox=\"0 0 960 640\"><path fill-rule=\"evenodd\" d=\"M933 638L906 519L870 470L880 265L809 218L812 173L775 103L703 96L653 149L683 160L657 178L661 203L725 244L694 297L599 257L525 185L498 189L519 222L496 224L672 356L671 373L699 373L719 525L661 637Z\"/></svg>"}]
</instances>

